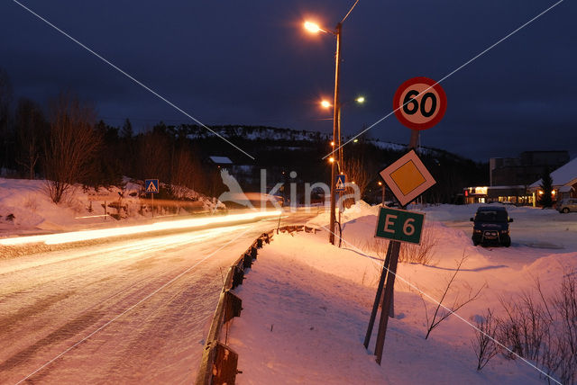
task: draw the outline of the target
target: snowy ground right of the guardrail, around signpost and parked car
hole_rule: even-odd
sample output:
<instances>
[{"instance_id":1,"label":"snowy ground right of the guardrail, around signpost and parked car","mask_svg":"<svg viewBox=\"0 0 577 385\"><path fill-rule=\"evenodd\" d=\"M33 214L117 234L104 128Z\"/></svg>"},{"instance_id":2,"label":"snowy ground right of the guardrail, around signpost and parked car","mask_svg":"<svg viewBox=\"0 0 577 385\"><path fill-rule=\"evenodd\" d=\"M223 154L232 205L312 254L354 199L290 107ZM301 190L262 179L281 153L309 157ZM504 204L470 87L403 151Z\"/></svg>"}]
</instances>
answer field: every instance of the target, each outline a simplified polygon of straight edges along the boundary
<instances>
[{"instance_id":1,"label":"snowy ground right of the guardrail, around signpost and parked car","mask_svg":"<svg viewBox=\"0 0 577 385\"><path fill-rule=\"evenodd\" d=\"M545 383L529 364L500 354L477 372L474 330L459 318L448 318L424 338L424 300L429 315L435 303L418 291L439 299L463 254L453 295L487 285L479 300L458 312L472 324L488 308L502 311L499 296L531 291L536 277L545 294L553 293L564 269L577 267L577 214L508 207L515 219L512 246L485 248L471 242L469 218L476 208L422 209L438 241L434 262L399 264L397 317L389 320L382 366L372 355L376 327L370 350L362 346L381 264L370 251L377 209L358 204L343 215L341 249L327 244L326 232L275 236L237 289L243 313L234 319L228 343L240 355L238 383Z\"/></svg>"}]
</instances>

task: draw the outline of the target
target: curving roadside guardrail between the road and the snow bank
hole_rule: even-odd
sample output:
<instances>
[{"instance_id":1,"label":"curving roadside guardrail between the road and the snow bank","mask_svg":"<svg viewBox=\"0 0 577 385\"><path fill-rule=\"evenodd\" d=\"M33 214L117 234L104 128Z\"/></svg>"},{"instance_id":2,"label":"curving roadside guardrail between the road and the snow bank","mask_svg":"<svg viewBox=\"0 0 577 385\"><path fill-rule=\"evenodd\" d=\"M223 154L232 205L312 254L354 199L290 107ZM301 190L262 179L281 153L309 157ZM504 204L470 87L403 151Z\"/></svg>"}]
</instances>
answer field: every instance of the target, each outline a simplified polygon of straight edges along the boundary
<instances>
[{"instance_id":1,"label":"curving roadside guardrail between the road and the snow bank","mask_svg":"<svg viewBox=\"0 0 577 385\"><path fill-rule=\"evenodd\" d=\"M265 243L269 244L270 240L280 232L316 232L315 228L307 226L283 226L275 228L262 235L252 242L250 246L241 255L226 273L223 291L216 305L215 316L210 324L208 336L206 336L205 349L202 354L200 370L197 374L197 385L233 385L236 380L236 374L241 373L237 370L238 354L226 345L228 334L224 335L224 343L221 342L221 335L225 324L230 322L234 317L241 316L243 301L237 297L232 290L243 284L244 270L252 266L256 260L258 249Z\"/></svg>"}]
</instances>

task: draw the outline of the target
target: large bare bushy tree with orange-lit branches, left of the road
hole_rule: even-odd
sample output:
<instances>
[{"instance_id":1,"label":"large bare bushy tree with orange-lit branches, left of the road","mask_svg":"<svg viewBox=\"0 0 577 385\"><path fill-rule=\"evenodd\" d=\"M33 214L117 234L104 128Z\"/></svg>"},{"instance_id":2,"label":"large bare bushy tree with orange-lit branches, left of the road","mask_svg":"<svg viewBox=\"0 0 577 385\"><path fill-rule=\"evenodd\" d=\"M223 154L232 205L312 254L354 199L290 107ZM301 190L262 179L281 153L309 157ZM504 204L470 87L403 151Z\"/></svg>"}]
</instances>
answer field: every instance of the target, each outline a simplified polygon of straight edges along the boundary
<instances>
[{"instance_id":1,"label":"large bare bushy tree with orange-lit branches, left of the road","mask_svg":"<svg viewBox=\"0 0 577 385\"><path fill-rule=\"evenodd\" d=\"M44 167L50 198L58 203L72 184L89 175L100 138L94 130L94 109L76 96L60 94L50 102L50 115Z\"/></svg>"}]
</instances>

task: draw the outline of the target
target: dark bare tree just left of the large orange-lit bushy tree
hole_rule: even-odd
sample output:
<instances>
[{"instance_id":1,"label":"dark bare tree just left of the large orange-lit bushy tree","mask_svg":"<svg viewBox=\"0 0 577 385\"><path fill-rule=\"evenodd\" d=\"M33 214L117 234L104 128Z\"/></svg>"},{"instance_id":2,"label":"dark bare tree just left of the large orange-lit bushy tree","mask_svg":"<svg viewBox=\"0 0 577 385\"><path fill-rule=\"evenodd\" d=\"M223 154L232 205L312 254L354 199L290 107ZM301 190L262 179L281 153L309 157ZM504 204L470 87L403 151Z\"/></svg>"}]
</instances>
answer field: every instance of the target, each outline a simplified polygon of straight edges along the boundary
<instances>
[{"instance_id":1,"label":"dark bare tree just left of the large orange-lit bushy tree","mask_svg":"<svg viewBox=\"0 0 577 385\"><path fill-rule=\"evenodd\" d=\"M16 163L23 174L34 179L35 169L41 158L42 142L45 139L47 122L37 103L21 99L16 107Z\"/></svg>"}]
</instances>

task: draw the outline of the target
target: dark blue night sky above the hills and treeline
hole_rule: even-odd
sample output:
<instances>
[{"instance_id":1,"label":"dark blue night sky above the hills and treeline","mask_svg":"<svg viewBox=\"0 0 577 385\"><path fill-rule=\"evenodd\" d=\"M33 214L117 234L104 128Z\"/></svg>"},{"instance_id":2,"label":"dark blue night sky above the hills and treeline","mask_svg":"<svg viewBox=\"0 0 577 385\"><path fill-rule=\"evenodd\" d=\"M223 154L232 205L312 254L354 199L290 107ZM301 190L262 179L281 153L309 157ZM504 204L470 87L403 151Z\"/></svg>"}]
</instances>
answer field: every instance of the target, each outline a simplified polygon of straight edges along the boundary
<instances>
[{"instance_id":1,"label":"dark blue night sky above the hills and treeline","mask_svg":"<svg viewBox=\"0 0 577 385\"><path fill-rule=\"evenodd\" d=\"M334 28L352 1L21 3L207 125L332 130L317 101L332 97L334 37L301 25L313 17ZM441 79L554 3L361 0L343 24L342 100L363 94L367 103L343 106L343 133L389 113L408 78ZM524 150L577 156L576 14L565 0L446 79L444 120L421 143L483 161ZM0 36L0 67L17 97L46 103L69 89L113 125L189 122L9 0ZM406 143L409 130L391 116L369 135Z\"/></svg>"}]
</instances>

